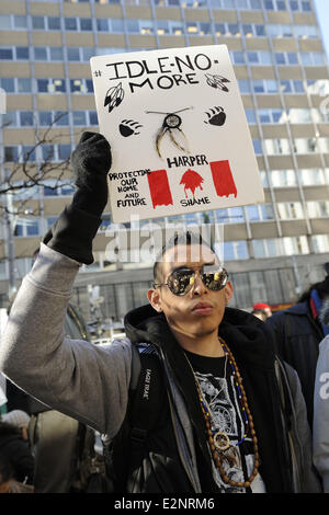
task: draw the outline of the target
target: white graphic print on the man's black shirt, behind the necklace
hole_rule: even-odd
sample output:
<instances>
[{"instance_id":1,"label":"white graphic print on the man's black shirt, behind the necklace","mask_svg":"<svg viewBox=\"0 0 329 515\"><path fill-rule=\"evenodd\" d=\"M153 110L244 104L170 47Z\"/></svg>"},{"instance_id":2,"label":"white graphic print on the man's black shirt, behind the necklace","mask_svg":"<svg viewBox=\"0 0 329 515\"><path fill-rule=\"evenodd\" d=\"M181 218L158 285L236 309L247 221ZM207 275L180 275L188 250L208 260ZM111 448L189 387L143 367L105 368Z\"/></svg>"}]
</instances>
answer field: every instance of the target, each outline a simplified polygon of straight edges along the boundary
<instances>
[{"instance_id":1,"label":"white graphic print on the man's black shirt, behind the necklace","mask_svg":"<svg viewBox=\"0 0 329 515\"><path fill-rule=\"evenodd\" d=\"M240 413L239 400L234 384L234 377L228 380L215 377L212 374L195 371L200 387L213 421L213 431L225 432L231 442L231 447L226 451L227 460L224 461L226 474L236 482L246 481L246 472L252 471L253 457L246 456L242 447L237 445L245 434L245 424ZM250 442L250 438L246 438ZM250 470L251 469L251 470ZM213 464L214 478L222 493L243 493L246 489L231 487L225 483L217 467ZM245 471L245 473L243 473Z\"/></svg>"}]
</instances>

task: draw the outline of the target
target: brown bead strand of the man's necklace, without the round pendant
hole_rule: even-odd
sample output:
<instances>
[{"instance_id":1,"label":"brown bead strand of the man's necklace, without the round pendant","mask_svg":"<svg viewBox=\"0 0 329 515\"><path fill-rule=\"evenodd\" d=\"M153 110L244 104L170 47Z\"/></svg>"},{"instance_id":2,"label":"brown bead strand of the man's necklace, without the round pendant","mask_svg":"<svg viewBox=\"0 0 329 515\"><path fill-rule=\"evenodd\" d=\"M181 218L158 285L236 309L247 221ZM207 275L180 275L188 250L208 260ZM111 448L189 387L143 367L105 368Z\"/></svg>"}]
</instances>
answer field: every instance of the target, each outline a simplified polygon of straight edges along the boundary
<instances>
[{"instance_id":1,"label":"brown bead strand of the man's necklace, without the round pendant","mask_svg":"<svg viewBox=\"0 0 329 515\"><path fill-rule=\"evenodd\" d=\"M203 405L203 397L202 397L202 391L201 391L201 388L200 388L200 385L198 385L198 381L197 381L197 378L194 374L194 370L192 368L192 371L193 371L193 376L194 376L194 380L195 380L195 385L196 385L196 389L197 389L197 392L198 392L198 396L200 396L200 400L201 400L201 408L202 408L202 411L203 411L203 415L204 415L204 419L205 419L205 425L206 425L206 434L207 434L207 439L208 439L208 443L209 443L209 448L211 448L211 451L212 451L212 455L213 455L213 459L219 470L219 473L220 473L220 477L223 479L223 481L227 484L230 484L231 487L238 487L238 488L249 488L250 484L252 483L252 481L254 480L256 476L258 474L258 469L259 469L259 449L258 449L258 439L257 439L257 436L256 436L256 431L254 431L254 425L253 425L253 420L252 420L252 415L251 415L251 412L250 412L250 409L249 409L249 405L248 405L248 400L247 400L247 396L246 396L246 391L245 391L245 388L243 388L243 385L242 385L242 379L241 379L241 376L240 376L240 373L239 373L239 369L238 369L238 366L237 366L237 363L235 360L235 357L234 355L231 354L229 347L227 346L227 344L222 341L219 339L219 342L220 342L220 345L224 347L225 345L225 348L227 350L227 354L228 354L228 357L232 364L232 367L235 369L234 371L234 376L236 377L237 379L237 384L240 388L240 391L241 391L241 399L242 399L242 405L243 405L243 409L246 410L246 413L247 413L247 417L248 417L248 426L249 426L249 430L250 430L250 434L251 434L251 437L252 437L252 444L253 444L253 456L254 456L254 461L253 461L253 470L250 474L250 477L248 478L247 481L242 482L242 481L232 481L226 473L225 473L225 470L223 468L223 460L224 458L220 456L220 451L216 448L216 445L215 445L215 442L214 442L214 437L213 437L213 431L212 431L212 424L209 422L209 413L206 413L205 410L204 410L204 405ZM190 365L191 366L191 365Z\"/></svg>"}]
</instances>

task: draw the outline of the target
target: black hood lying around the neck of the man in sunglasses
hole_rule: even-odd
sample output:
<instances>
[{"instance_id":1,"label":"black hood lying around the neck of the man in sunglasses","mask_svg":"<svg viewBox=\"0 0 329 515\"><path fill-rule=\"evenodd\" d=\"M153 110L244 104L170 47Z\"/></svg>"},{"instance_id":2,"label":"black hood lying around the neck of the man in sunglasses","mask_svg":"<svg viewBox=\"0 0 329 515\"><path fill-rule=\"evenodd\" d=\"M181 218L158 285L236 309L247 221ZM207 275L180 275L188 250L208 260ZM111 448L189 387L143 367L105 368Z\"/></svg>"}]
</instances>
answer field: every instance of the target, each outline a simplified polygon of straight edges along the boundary
<instances>
[{"instance_id":1,"label":"black hood lying around the neck of the man in sunglasses","mask_svg":"<svg viewBox=\"0 0 329 515\"><path fill-rule=\"evenodd\" d=\"M163 313L150 305L129 311L125 317L125 332L133 343L154 343L164 348L179 346ZM253 314L235 308L226 308L218 334L230 346L236 358L253 366L272 367L274 343L271 330Z\"/></svg>"}]
</instances>

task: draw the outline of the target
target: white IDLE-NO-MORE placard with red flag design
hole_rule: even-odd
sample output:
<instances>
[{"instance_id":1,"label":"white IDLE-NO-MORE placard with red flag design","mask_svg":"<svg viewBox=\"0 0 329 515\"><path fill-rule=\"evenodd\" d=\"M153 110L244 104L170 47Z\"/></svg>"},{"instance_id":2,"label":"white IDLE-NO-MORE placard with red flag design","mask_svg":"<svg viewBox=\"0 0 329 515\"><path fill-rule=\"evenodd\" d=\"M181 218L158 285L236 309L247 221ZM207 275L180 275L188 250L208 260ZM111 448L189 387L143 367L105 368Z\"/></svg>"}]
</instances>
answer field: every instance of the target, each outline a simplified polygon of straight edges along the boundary
<instances>
[{"instance_id":1,"label":"white IDLE-NO-MORE placard with red flag design","mask_svg":"<svg viewBox=\"0 0 329 515\"><path fill-rule=\"evenodd\" d=\"M91 58L114 222L264 202L226 45Z\"/></svg>"}]
</instances>

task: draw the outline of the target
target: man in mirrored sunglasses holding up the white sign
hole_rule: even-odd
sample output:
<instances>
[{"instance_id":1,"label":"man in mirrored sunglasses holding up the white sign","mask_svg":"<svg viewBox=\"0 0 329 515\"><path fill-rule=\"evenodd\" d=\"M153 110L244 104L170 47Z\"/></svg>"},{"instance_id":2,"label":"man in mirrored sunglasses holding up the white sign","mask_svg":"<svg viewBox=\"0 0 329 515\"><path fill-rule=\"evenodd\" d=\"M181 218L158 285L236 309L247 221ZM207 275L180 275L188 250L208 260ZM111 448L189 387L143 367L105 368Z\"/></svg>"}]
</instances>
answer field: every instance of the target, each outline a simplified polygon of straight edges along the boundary
<instances>
[{"instance_id":1,"label":"man in mirrored sunglasses holding up the white sign","mask_svg":"<svg viewBox=\"0 0 329 515\"><path fill-rule=\"evenodd\" d=\"M18 293L1 369L105 435L110 491L318 492L297 376L275 358L263 322L227 307L227 272L198 238L162 250L149 305L125 318L127 339L64 337L79 265L93 261L111 162L107 140L84 133L71 159L77 192Z\"/></svg>"}]
</instances>

